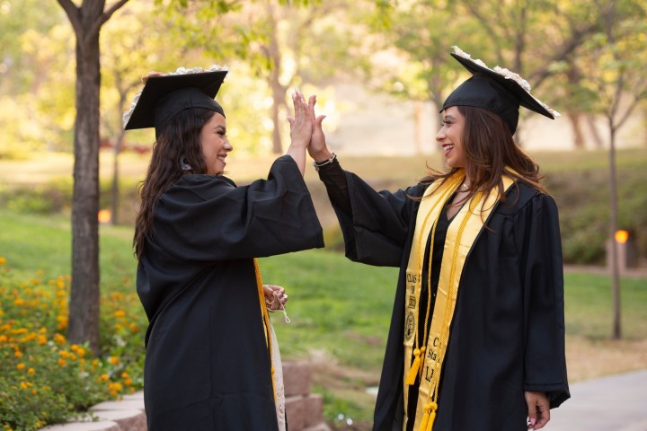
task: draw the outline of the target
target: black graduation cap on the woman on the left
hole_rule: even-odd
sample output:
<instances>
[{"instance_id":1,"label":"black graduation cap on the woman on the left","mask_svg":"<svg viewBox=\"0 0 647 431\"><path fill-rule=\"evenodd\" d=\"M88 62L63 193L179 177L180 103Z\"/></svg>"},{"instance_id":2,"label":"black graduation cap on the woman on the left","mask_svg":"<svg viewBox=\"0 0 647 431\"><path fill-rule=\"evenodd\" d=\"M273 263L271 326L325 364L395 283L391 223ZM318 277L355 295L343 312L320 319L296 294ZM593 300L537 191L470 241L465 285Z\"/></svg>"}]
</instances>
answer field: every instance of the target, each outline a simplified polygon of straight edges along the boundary
<instances>
[{"instance_id":1,"label":"black graduation cap on the woman on the left","mask_svg":"<svg viewBox=\"0 0 647 431\"><path fill-rule=\"evenodd\" d=\"M191 108L215 110L224 117L225 111L214 97L226 74L226 68L212 66L206 70L180 67L169 74L148 76L144 88L123 115L124 129L155 128L157 131L168 119Z\"/></svg>"}]
</instances>

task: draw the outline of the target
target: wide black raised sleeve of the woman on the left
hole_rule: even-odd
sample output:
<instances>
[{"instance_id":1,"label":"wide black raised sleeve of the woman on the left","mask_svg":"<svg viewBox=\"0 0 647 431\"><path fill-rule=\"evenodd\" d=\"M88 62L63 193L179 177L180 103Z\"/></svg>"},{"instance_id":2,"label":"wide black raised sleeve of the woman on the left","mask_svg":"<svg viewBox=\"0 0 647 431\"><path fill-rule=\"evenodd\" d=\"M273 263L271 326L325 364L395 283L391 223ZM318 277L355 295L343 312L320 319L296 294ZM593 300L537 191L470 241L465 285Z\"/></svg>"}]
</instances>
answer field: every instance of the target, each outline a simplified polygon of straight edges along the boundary
<instances>
[{"instance_id":1,"label":"wide black raised sleeve of the woman on the left","mask_svg":"<svg viewBox=\"0 0 647 431\"><path fill-rule=\"evenodd\" d=\"M157 203L147 246L194 263L260 258L321 248L323 229L297 164L285 155L267 180L247 186L182 177Z\"/></svg>"}]
</instances>

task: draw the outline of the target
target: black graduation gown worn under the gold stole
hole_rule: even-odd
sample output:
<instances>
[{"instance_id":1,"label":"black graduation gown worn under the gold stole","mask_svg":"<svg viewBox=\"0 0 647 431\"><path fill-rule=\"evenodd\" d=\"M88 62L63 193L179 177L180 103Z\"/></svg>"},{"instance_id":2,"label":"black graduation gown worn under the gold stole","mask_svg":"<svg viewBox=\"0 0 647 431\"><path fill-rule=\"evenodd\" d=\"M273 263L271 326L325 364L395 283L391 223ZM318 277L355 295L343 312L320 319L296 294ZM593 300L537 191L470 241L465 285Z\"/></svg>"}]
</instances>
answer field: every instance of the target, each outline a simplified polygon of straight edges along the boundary
<instances>
[{"instance_id":1,"label":"black graduation gown worn under the gold stole","mask_svg":"<svg viewBox=\"0 0 647 431\"><path fill-rule=\"evenodd\" d=\"M345 172L340 193L321 170L340 220L346 256L400 267L373 429L402 430L405 274L420 184L394 193ZM334 174L334 172L332 172ZM334 197L348 195L349 202ZM335 201L339 205L335 204ZM523 391L545 391L551 408L570 397L563 323L563 262L554 199L525 184L510 188L467 256L450 329L434 431L527 429ZM427 258L424 259L425 261Z\"/></svg>"}]
</instances>

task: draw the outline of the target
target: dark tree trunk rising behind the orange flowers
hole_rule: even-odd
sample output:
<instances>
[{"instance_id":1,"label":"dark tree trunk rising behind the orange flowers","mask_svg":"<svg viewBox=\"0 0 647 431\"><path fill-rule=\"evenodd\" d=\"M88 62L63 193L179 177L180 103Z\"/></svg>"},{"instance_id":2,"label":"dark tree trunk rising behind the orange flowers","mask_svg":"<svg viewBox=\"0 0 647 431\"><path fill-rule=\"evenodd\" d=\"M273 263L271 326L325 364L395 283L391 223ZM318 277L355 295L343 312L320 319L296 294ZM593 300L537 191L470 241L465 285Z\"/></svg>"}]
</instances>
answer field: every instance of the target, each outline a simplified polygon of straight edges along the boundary
<instances>
[{"instance_id":1,"label":"dark tree trunk rising behind the orange flowers","mask_svg":"<svg viewBox=\"0 0 647 431\"><path fill-rule=\"evenodd\" d=\"M91 9L102 13L101 8ZM81 11L85 30L99 17ZM70 343L99 350L99 31L76 34L76 121L72 198L72 289Z\"/></svg>"}]
</instances>

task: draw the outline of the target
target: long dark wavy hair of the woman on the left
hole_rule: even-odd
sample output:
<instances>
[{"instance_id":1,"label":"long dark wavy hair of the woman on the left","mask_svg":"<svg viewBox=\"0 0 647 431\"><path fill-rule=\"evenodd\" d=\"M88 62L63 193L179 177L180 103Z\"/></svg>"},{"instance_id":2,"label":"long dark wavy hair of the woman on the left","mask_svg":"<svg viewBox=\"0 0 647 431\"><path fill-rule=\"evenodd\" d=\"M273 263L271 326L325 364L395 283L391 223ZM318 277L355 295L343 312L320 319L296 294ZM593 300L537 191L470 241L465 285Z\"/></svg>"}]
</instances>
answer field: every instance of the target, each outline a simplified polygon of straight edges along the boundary
<instances>
[{"instance_id":1,"label":"long dark wavy hair of the woman on the left","mask_svg":"<svg viewBox=\"0 0 647 431\"><path fill-rule=\"evenodd\" d=\"M141 198L133 238L137 259L144 254L146 237L153 228L153 209L159 198L182 175L207 173L200 132L215 114L216 111L203 108L182 110L158 131L146 179L137 187Z\"/></svg>"}]
</instances>

